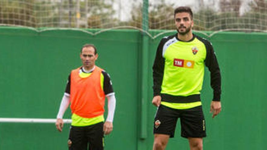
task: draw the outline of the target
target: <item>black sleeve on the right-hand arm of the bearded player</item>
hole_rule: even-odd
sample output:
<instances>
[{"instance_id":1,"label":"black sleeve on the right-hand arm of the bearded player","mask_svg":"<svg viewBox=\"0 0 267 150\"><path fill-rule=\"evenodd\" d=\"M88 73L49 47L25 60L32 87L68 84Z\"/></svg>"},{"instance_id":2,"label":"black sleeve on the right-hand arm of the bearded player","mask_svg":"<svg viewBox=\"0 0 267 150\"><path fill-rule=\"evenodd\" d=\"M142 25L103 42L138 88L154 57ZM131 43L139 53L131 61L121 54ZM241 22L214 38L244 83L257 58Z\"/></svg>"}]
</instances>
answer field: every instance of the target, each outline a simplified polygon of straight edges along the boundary
<instances>
[{"instance_id":1,"label":"black sleeve on the right-hand arm of the bearded player","mask_svg":"<svg viewBox=\"0 0 267 150\"><path fill-rule=\"evenodd\" d=\"M211 73L211 88L213 89L213 101L220 101L221 99L221 73L219 64L210 42L205 42L207 54L205 65Z\"/></svg>"}]
</instances>

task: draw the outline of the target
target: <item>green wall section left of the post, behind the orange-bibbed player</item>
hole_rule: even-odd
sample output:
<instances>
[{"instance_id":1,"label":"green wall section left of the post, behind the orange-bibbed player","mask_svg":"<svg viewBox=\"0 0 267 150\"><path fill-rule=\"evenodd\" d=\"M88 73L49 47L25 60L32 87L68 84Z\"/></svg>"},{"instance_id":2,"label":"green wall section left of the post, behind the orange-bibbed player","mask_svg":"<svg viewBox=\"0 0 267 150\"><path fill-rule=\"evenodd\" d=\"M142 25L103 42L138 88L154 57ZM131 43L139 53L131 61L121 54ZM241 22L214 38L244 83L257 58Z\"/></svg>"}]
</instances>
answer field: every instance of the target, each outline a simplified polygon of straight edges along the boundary
<instances>
[{"instance_id":1,"label":"green wall section left of the post, behind the orange-bibbed player","mask_svg":"<svg viewBox=\"0 0 267 150\"><path fill-rule=\"evenodd\" d=\"M93 43L99 53L96 64L110 74L117 98L114 130L106 136L106 148L117 149L118 141L127 137L123 144L128 149L136 149L137 45L141 38L138 32L129 31L126 36L120 31L98 36L70 30L37 33L27 29L0 28L0 32L0 117L55 118L69 72L81 65L81 46ZM70 116L68 110L64 118ZM32 142L34 149L54 149L55 146L66 149L68 126L59 133L53 124L1 123L0 149L28 149L28 144L21 139L23 137ZM10 131L9 127L17 128L19 132ZM37 132L40 128L42 132ZM39 144L40 134L48 143L46 147ZM55 141L59 144L55 145Z\"/></svg>"}]
</instances>

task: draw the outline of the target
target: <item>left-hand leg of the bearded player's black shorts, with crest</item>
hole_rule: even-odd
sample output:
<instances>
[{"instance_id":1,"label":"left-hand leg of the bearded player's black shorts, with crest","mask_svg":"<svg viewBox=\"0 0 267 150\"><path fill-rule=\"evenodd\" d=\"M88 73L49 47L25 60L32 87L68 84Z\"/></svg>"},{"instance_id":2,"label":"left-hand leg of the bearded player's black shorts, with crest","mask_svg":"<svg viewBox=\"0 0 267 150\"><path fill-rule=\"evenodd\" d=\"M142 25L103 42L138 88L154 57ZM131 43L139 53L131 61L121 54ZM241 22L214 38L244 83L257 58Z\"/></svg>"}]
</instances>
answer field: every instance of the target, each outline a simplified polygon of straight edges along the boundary
<instances>
[{"instance_id":1,"label":"left-hand leg of the bearded player's black shorts, with crest","mask_svg":"<svg viewBox=\"0 0 267 150\"><path fill-rule=\"evenodd\" d=\"M177 118L177 110L160 105L154 118L154 134L169 135L174 137Z\"/></svg>"}]
</instances>

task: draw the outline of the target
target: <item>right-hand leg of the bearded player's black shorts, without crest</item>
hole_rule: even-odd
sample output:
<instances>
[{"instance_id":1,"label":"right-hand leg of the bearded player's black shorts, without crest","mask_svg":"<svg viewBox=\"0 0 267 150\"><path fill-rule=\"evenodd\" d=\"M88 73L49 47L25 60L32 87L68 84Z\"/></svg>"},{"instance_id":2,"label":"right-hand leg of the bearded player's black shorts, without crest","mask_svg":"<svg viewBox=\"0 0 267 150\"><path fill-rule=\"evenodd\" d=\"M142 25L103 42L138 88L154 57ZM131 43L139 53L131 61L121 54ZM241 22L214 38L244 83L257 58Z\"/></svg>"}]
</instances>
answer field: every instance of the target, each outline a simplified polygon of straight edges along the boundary
<instances>
[{"instance_id":1,"label":"right-hand leg of the bearded player's black shorts, without crest","mask_svg":"<svg viewBox=\"0 0 267 150\"><path fill-rule=\"evenodd\" d=\"M183 113L181 113L180 122L182 137L206 137L205 118L202 111L202 106L183 110Z\"/></svg>"}]
</instances>

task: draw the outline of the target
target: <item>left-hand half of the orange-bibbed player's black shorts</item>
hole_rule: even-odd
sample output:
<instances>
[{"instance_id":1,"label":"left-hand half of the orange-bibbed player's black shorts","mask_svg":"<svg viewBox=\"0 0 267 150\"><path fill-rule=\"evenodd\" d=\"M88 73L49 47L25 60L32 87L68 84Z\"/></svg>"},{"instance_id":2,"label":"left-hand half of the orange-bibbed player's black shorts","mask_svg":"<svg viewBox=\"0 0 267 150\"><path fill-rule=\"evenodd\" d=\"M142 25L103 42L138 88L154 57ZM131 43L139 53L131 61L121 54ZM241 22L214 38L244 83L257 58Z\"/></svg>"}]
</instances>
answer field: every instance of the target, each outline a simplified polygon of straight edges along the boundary
<instances>
[{"instance_id":1,"label":"left-hand half of the orange-bibbed player's black shorts","mask_svg":"<svg viewBox=\"0 0 267 150\"><path fill-rule=\"evenodd\" d=\"M87 145L84 127L71 126L68 140L69 150L85 150Z\"/></svg>"}]
</instances>

